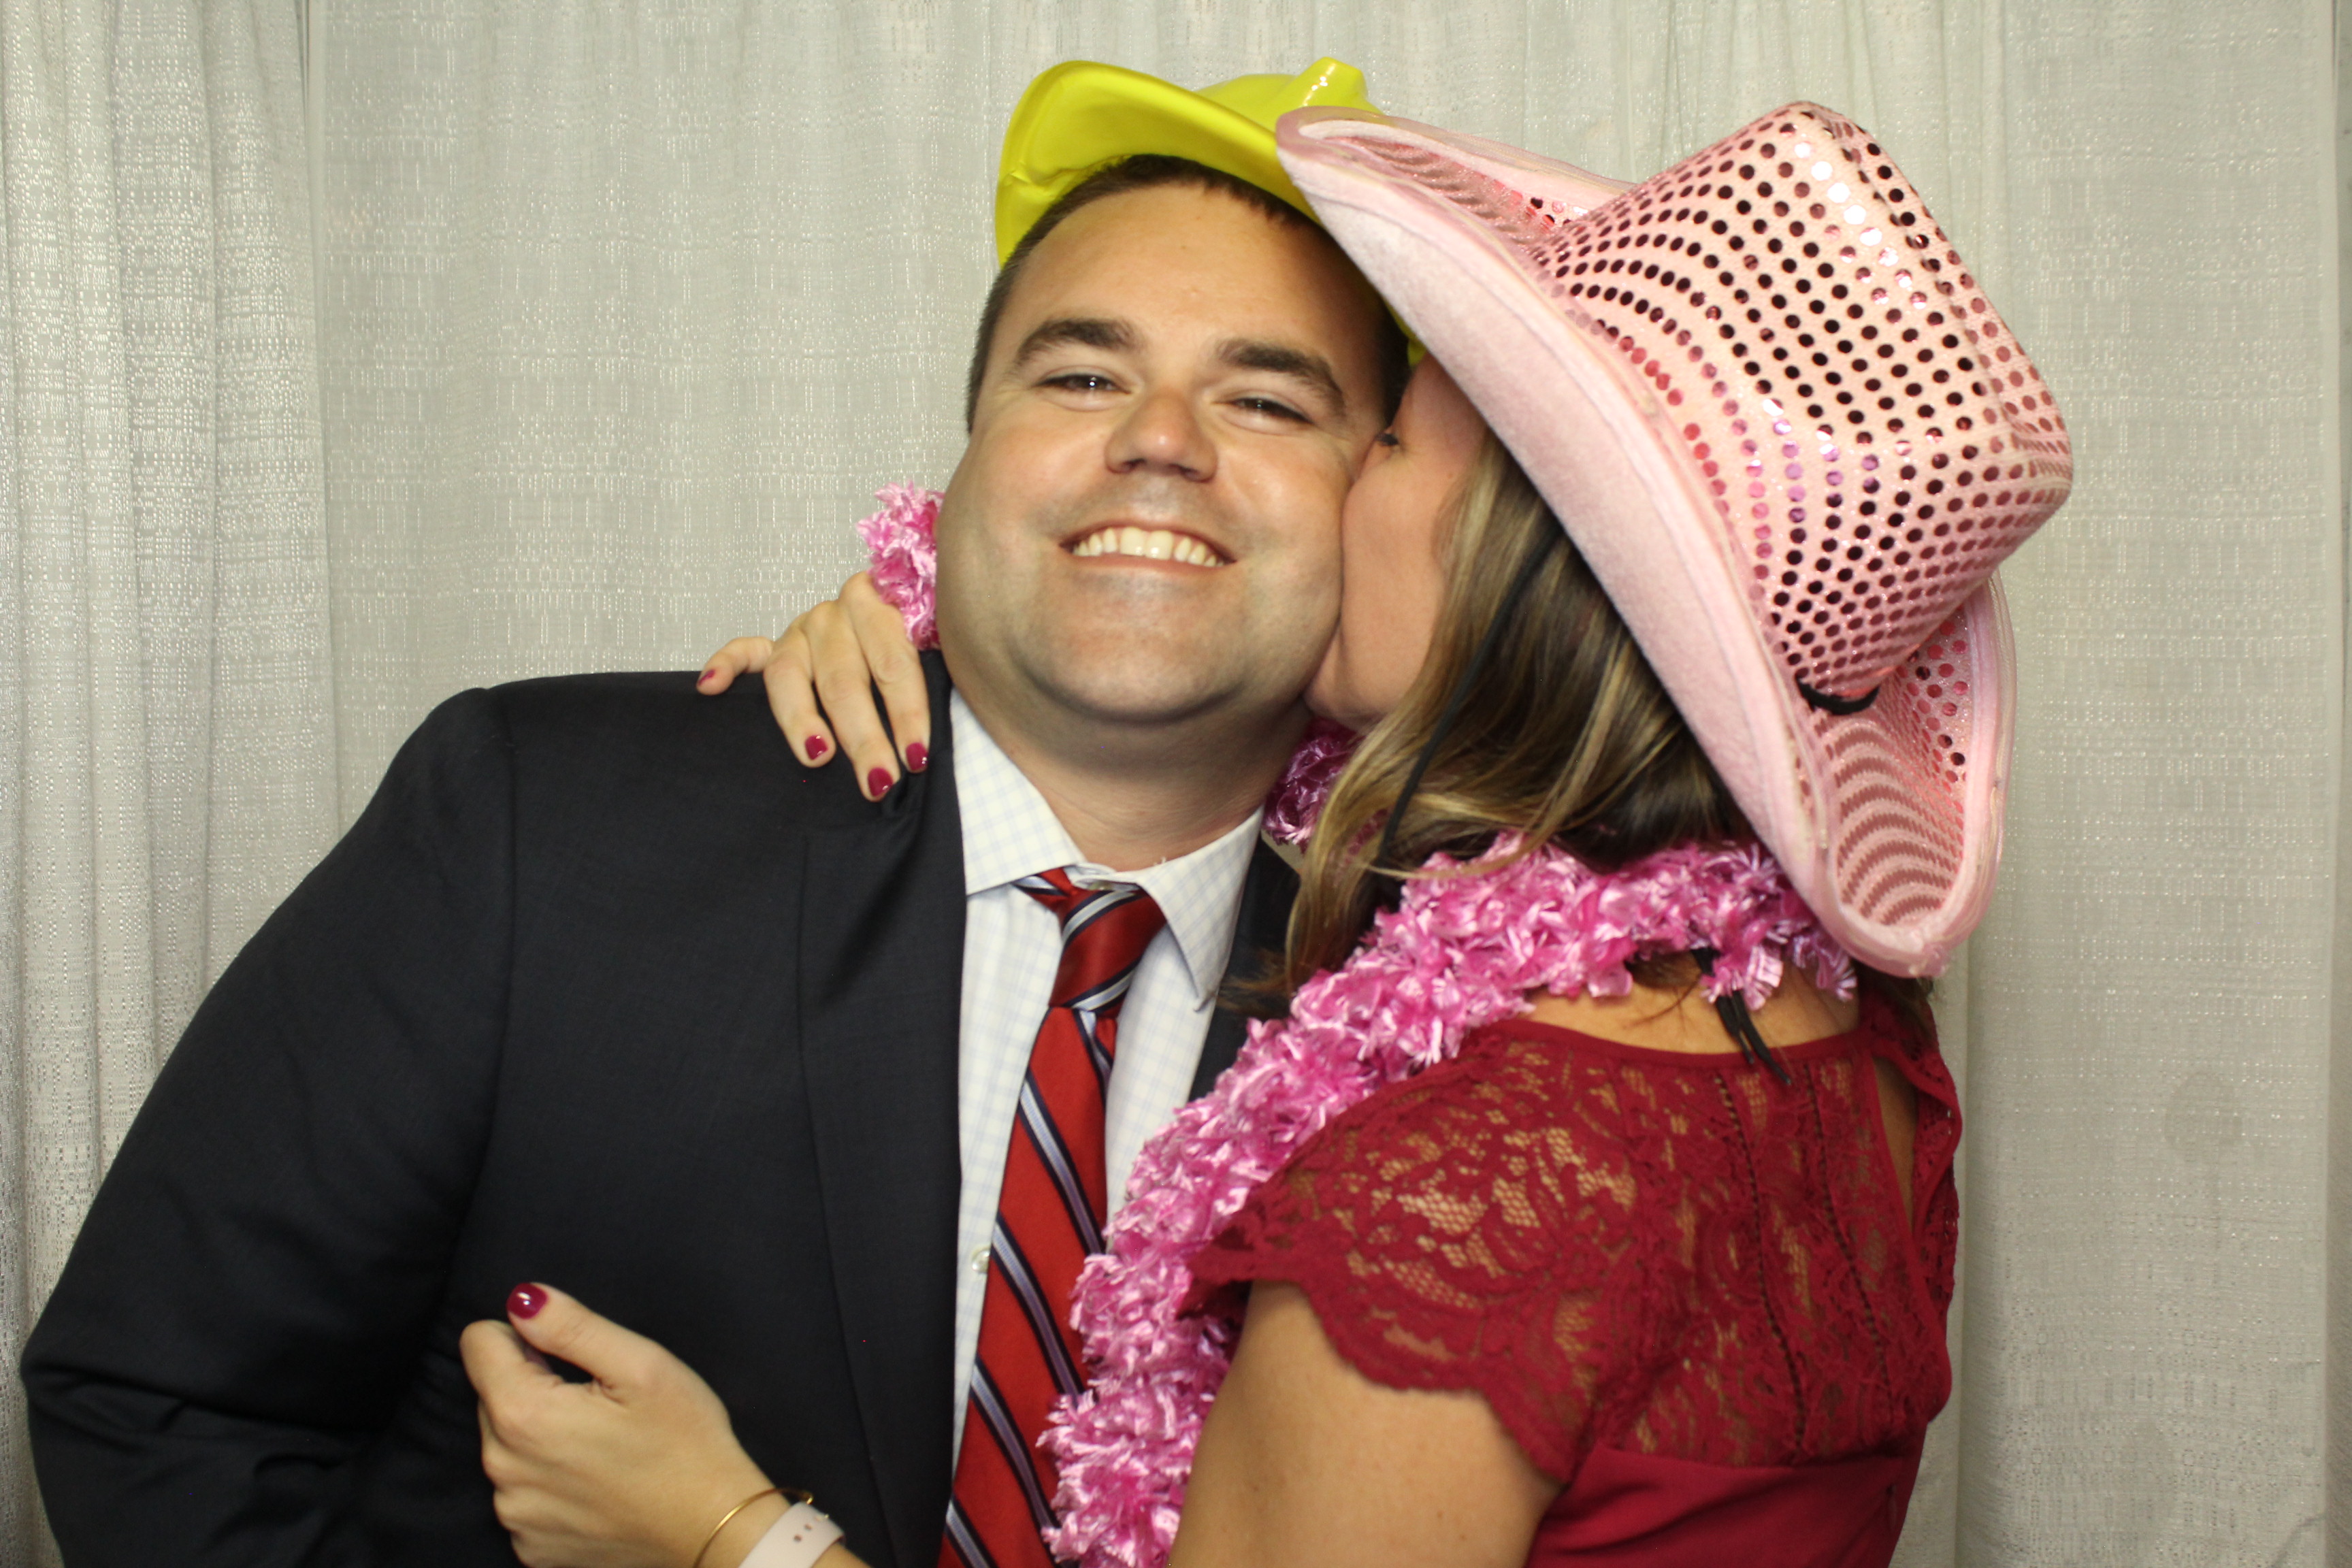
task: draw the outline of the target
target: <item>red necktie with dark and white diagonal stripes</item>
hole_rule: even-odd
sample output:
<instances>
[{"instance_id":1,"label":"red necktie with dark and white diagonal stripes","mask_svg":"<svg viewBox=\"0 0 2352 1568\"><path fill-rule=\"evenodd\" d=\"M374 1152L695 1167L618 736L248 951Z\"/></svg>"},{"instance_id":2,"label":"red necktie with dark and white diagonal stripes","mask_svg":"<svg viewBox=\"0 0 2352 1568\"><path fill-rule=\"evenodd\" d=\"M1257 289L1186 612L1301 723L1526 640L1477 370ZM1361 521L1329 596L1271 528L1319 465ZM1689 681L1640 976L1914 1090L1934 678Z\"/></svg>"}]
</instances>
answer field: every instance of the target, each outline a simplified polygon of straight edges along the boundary
<instances>
[{"instance_id":1,"label":"red necktie with dark and white diagonal stripes","mask_svg":"<svg viewBox=\"0 0 2352 1568\"><path fill-rule=\"evenodd\" d=\"M981 1352L971 1363L941 1568L1054 1561L1042 1540L1054 1526L1054 1462L1037 1453L1037 1436L1054 1399L1084 1387L1070 1291L1087 1255L1103 1251L1110 1211L1103 1095L1120 1004L1143 950L1167 924L1138 886L1082 889L1058 870L1016 886L1061 919L1061 969L1004 1150Z\"/></svg>"}]
</instances>

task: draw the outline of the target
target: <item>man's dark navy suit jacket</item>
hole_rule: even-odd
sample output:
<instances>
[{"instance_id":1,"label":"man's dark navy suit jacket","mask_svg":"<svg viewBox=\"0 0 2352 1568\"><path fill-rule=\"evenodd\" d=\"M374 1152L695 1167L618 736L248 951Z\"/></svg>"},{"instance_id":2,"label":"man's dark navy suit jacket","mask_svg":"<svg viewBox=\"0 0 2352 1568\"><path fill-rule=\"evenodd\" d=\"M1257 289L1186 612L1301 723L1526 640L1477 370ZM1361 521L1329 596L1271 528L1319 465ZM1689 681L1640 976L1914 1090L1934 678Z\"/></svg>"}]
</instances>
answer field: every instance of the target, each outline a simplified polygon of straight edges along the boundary
<instances>
[{"instance_id":1,"label":"man's dark navy suit jacket","mask_svg":"<svg viewBox=\"0 0 2352 1568\"><path fill-rule=\"evenodd\" d=\"M1237 952L1294 886L1261 846ZM456 1340L541 1279L929 1568L962 943L946 724L875 806L755 682L445 703L205 999L31 1335L66 1561L513 1563ZM1221 1011L1195 1093L1240 1041Z\"/></svg>"}]
</instances>

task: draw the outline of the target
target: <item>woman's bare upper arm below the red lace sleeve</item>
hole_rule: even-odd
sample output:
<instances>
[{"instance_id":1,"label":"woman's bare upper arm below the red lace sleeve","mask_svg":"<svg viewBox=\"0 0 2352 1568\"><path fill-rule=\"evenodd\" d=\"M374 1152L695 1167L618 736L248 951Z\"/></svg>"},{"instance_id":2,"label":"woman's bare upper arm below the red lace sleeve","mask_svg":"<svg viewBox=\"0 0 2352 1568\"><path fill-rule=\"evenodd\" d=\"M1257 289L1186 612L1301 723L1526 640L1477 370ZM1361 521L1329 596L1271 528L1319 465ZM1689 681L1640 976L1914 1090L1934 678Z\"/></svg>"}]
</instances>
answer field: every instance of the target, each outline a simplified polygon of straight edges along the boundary
<instances>
[{"instance_id":1,"label":"woman's bare upper arm below the red lace sleeve","mask_svg":"<svg viewBox=\"0 0 2352 1568\"><path fill-rule=\"evenodd\" d=\"M1557 1493L1482 1396L1371 1382L1303 1291L1265 1281L1169 1568L1519 1568Z\"/></svg>"}]
</instances>

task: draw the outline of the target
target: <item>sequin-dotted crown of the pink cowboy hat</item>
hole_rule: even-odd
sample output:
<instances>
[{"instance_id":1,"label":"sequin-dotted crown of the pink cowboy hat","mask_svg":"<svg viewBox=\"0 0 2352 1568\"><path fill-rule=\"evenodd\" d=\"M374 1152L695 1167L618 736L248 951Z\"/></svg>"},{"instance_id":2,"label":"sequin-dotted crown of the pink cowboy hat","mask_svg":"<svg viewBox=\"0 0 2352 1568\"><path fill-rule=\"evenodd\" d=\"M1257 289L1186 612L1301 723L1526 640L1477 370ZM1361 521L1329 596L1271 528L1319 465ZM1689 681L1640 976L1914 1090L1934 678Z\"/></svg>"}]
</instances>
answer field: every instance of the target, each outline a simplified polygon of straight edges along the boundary
<instances>
[{"instance_id":1,"label":"sequin-dotted crown of the pink cowboy hat","mask_svg":"<svg viewBox=\"0 0 2352 1568\"><path fill-rule=\"evenodd\" d=\"M1792 103L1576 214L1357 143L1522 247L1672 411L1802 689L1863 701L2058 508L2039 371L1851 120Z\"/></svg>"}]
</instances>

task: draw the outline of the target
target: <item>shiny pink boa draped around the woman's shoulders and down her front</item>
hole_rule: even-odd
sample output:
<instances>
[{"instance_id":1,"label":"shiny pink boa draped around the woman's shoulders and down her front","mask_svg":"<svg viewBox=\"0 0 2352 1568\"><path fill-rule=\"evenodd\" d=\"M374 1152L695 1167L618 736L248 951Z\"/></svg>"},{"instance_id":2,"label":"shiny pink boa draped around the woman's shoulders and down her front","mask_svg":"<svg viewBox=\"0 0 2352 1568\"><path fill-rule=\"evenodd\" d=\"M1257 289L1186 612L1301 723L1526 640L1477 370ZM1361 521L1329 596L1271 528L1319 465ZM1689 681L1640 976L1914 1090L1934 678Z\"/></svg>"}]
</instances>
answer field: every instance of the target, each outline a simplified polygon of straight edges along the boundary
<instances>
[{"instance_id":1,"label":"shiny pink boa draped around the woman's shoulders and down her front","mask_svg":"<svg viewBox=\"0 0 2352 1568\"><path fill-rule=\"evenodd\" d=\"M1091 1389L1063 1401L1044 1436L1061 1467L1056 1556L1167 1561L1237 1338L1232 1321L1181 1312L1190 1260L1331 1117L1449 1060L1470 1030L1524 1013L1534 990L1623 997L1635 957L1715 947L1705 992L1738 990L1750 1006L1783 964L1853 992L1851 961L1757 846L1670 849L1613 875L1555 849L1486 872L1437 856L1428 870L1345 966L1301 987L1287 1023L1251 1025L1216 1088L1143 1145L1070 1314Z\"/></svg>"}]
</instances>

